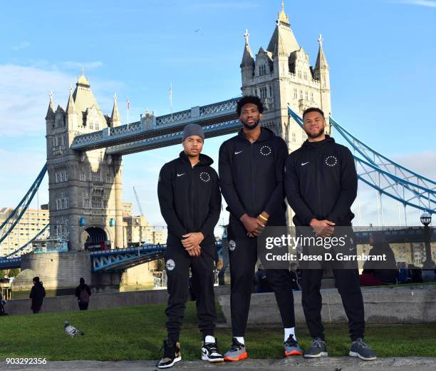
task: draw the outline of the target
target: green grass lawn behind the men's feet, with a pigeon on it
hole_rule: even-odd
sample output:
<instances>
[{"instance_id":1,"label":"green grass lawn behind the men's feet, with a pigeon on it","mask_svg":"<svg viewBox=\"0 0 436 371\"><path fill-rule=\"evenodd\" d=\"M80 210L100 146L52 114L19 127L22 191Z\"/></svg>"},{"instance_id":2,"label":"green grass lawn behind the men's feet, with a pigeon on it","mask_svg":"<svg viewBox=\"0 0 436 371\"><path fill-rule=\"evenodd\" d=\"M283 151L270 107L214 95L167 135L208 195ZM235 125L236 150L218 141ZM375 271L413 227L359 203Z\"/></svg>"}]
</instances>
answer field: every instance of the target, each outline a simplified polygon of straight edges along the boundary
<instances>
[{"instance_id":1,"label":"green grass lawn behind the men's feet, with a pigeon on it","mask_svg":"<svg viewBox=\"0 0 436 371\"><path fill-rule=\"evenodd\" d=\"M46 357L47 360L155 360L165 338L165 305L147 305L84 312L41 313L0 317L0 360L6 357ZM63 322L85 332L70 338ZM219 310L219 321L224 321ZM296 335L303 350L310 338L305 326ZM219 346L230 345L231 331L217 329ZM249 328L246 346L252 358L283 357L283 330L279 327ZM365 340L379 357L436 357L436 324L368 325ZM180 338L185 360L199 357L201 336L194 303L187 306ZM327 325L328 354L348 355L346 325Z\"/></svg>"}]
</instances>

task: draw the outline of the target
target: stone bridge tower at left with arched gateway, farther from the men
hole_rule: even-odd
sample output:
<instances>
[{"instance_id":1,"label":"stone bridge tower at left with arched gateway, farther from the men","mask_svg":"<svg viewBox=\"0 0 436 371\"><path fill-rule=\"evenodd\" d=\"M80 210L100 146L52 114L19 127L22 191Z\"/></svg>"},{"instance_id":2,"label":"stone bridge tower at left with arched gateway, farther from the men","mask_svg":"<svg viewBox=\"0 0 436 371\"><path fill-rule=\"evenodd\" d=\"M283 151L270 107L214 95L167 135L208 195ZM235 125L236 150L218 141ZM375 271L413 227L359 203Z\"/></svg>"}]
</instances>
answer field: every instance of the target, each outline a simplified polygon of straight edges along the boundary
<instances>
[{"instance_id":1,"label":"stone bridge tower at left with arched gateway, farther from the men","mask_svg":"<svg viewBox=\"0 0 436 371\"><path fill-rule=\"evenodd\" d=\"M76 88L70 86L66 109L53 106L46 115L48 193L51 238L68 240L69 250L85 243L123 247L123 183L121 156L105 148L78 153L71 150L80 134L113 128L121 123L114 96L113 111L103 115L83 71Z\"/></svg>"}]
</instances>

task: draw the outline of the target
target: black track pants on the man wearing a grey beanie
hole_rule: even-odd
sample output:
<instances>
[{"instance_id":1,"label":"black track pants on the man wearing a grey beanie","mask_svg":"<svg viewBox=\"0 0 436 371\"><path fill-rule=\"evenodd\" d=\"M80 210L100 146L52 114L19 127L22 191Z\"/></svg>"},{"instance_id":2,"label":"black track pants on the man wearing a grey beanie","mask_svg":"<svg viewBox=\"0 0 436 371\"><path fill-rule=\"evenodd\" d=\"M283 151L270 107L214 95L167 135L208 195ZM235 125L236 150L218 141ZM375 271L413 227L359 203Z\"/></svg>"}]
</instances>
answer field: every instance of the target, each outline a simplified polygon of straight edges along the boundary
<instances>
[{"instance_id":1,"label":"black track pants on the man wearing a grey beanie","mask_svg":"<svg viewBox=\"0 0 436 371\"><path fill-rule=\"evenodd\" d=\"M192 270L194 294L197 298L199 330L203 337L214 335L217 312L214 296L214 254L215 245L202 247L198 258L191 258L181 245L167 247L165 263L167 268L168 298L165 314L168 317L168 340L179 341L186 302L190 291L190 268Z\"/></svg>"}]
</instances>

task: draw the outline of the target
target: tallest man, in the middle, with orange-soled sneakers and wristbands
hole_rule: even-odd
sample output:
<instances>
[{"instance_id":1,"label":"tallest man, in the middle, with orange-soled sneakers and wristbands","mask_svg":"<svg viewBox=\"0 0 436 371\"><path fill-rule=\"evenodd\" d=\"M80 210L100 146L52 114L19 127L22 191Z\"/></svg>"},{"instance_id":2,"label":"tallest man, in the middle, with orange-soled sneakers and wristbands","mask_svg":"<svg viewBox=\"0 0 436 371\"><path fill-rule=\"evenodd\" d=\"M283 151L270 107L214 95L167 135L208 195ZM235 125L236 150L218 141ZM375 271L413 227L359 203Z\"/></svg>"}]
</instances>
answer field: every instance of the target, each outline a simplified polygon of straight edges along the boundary
<instances>
[{"instance_id":1,"label":"tallest man, in the middle, with orange-soled sneakers and wristbands","mask_svg":"<svg viewBox=\"0 0 436 371\"><path fill-rule=\"evenodd\" d=\"M249 313L256 265L257 236L265 225L286 225L283 172L286 143L268 128L261 128L263 105L256 96L244 96L237 105L242 129L219 148L219 178L230 212L229 260L232 280L232 347L224 360L248 357L244 332ZM295 337L294 296L289 270L266 270L284 325L285 356L302 355Z\"/></svg>"}]
</instances>

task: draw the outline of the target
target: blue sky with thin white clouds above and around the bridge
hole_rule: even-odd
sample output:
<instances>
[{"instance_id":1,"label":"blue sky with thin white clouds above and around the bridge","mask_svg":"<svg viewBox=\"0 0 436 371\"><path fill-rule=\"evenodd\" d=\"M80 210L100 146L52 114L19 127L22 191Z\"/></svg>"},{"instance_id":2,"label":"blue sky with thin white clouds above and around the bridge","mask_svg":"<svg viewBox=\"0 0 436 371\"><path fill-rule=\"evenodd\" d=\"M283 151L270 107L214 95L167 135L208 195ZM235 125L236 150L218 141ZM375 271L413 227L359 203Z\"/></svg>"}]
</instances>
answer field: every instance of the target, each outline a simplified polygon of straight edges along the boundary
<instances>
[{"instance_id":1,"label":"blue sky with thin white clouds above and around the bridge","mask_svg":"<svg viewBox=\"0 0 436 371\"><path fill-rule=\"evenodd\" d=\"M14 1L0 24L0 206L14 206L46 157L48 91L65 108L68 86L85 68L103 112L116 92L126 120L239 96L244 30L251 49L268 45L281 1ZM333 116L386 156L436 178L436 1L287 0L296 39L315 63L318 34L331 68ZM223 137L204 148L217 158ZM162 224L157 172L180 146L126 156L125 200L140 195ZM39 192L48 199L47 187ZM375 223L375 196L365 223ZM386 203L388 204L388 202ZM34 204L36 207L36 203ZM388 207L388 206L387 206ZM395 212L393 212L395 214ZM412 218L417 218L413 215ZM394 219L395 220L395 219ZM397 218L398 220L398 218Z\"/></svg>"}]
</instances>

